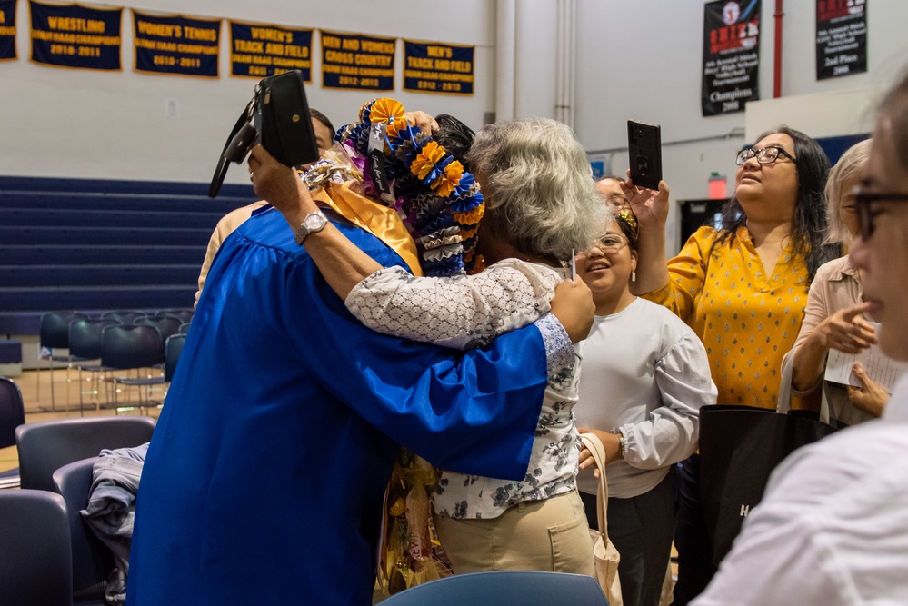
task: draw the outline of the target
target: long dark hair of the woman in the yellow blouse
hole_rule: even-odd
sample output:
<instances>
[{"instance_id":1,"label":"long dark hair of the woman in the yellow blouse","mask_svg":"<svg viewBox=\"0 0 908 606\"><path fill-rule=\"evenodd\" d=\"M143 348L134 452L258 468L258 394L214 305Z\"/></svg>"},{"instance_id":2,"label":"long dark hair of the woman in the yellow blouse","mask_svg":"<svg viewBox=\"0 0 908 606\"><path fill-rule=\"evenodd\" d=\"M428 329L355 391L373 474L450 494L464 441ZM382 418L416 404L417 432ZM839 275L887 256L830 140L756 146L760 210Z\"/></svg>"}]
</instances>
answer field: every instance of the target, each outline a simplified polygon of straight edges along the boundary
<instances>
[{"instance_id":1,"label":"long dark hair of the woman in the yellow blouse","mask_svg":"<svg viewBox=\"0 0 908 606\"><path fill-rule=\"evenodd\" d=\"M795 257L803 259L807 266L807 281L813 282L813 276L820 265L842 256L842 244L823 244L826 233L826 196L823 193L826 177L829 175L829 158L823 148L811 137L788 126L780 126L757 137L763 140L770 134L787 134L794 142L794 157L797 158L798 192L794 202L791 237ZM713 243L724 243L731 240L738 228L745 224L747 216L736 197L724 205L722 210L723 229ZM765 268L772 271L772 268Z\"/></svg>"}]
</instances>

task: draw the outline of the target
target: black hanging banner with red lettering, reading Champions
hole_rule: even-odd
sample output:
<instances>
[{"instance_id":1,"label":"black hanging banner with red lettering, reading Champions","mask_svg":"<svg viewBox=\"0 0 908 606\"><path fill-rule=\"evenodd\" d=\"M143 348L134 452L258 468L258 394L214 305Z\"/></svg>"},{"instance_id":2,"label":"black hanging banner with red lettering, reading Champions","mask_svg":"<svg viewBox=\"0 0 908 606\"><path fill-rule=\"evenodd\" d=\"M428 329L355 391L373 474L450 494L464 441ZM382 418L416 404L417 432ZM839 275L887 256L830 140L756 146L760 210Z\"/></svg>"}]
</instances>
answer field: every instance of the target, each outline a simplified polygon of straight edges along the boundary
<instances>
[{"instance_id":1,"label":"black hanging banner with red lettering, reading Champions","mask_svg":"<svg viewBox=\"0 0 908 606\"><path fill-rule=\"evenodd\" d=\"M703 115L760 98L760 0L703 5Z\"/></svg>"}]
</instances>

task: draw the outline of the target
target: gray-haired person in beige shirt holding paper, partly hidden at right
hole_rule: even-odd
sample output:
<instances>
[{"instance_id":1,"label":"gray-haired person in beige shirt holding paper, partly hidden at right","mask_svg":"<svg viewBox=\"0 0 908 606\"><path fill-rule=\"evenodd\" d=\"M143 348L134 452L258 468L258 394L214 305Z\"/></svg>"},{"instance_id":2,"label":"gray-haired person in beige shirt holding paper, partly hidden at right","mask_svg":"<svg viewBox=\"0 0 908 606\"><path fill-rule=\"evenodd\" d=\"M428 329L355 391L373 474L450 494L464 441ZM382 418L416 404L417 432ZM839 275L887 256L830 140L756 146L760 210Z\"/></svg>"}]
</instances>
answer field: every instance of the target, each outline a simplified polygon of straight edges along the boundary
<instances>
[{"instance_id":1,"label":"gray-haired person in beige shirt holding paper, partly hidden at right","mask_svg":"<svg viewBox=\"0 0 908 606\"><path fill-rule=\"evenodd\" d=\"M858 233L854 188L861 183L870 140L853 145L835 164L826 183L828 227L825 243L850 245ZM844 425L879 417L889 392L874 382L861 363L853 365L860 387L823 380L830 350L860 353L875 344L876 332L863 302L861 275L847 256L824 263L807 296L801 333L783 360L792 366L792 393L806 397L822 391L830 417ZM821 389L822 388L822 389Z\"/></svg>"}]
</instances>

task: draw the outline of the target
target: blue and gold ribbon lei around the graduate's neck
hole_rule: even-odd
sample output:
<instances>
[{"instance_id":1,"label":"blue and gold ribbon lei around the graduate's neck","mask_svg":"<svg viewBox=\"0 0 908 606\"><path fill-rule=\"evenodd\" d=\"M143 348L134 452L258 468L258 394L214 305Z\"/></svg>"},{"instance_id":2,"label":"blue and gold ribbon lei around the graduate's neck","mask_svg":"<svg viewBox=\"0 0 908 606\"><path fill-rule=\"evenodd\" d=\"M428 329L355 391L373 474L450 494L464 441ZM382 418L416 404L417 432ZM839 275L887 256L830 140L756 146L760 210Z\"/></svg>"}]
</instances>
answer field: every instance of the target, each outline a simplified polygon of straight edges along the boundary
<instances>
[{"instance_id":1,"label":"blue and gold ribbon lei around the graduate's neck","mask_svg":"<svg viewBox=\"0 0 908 606\"><path fill-rule=\"evenodd\" d=\"M444 146L404 119L404 106L383 97L364 104L359 122L334 134L356 171L331 154L304 175L310 187L351 175L362 181L363 192L397 210L414 237L426 275L445 276L477 269L476 231L485 204L473 174L447 154ZM382 173L391 195L374 183L368 162L380 147ZM358 173L358 174L357 174Z\"/></svg>"}]
</instances>

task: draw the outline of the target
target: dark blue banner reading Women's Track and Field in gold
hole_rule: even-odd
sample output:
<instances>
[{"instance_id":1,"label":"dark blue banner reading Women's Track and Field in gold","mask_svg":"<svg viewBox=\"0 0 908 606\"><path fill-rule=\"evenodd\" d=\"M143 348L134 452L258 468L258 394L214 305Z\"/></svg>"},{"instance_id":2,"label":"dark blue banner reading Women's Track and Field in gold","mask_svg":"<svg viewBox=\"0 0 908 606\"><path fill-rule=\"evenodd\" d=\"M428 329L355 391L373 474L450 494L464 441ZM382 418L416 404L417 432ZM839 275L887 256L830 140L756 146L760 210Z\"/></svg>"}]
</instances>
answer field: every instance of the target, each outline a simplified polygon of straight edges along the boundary
<instances>
[{"instance_id":1,"label":"dark blue banner reading Women's Track and Field in gold","mask_svg":"<svg viewBox=\"0 0 908 606\"><path fill-rule=\"evenodd\" d=\"M264 78L293 69L312 82L311 29L230 23L230 75Z\"/></svg>"}]
</instances>

